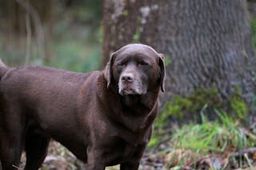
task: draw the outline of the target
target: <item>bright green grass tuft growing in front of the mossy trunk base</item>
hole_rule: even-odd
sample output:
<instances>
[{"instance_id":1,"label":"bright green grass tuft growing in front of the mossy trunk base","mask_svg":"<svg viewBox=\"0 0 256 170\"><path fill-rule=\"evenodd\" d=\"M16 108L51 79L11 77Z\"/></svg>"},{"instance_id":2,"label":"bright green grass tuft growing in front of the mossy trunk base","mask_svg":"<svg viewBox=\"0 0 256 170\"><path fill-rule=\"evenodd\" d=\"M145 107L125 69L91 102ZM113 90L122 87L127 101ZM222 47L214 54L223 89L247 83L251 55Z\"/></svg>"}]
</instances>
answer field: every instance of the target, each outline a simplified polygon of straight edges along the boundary
<instances>
[{"instance_id":1,"label":"bright green grass tuft growing in front of the mossy trunk base","mask_svg":"<svg viewBox=\"0 0 256 170\"><path fill-rule=\"evenodd\" d=\"M170 143L174 148L190 149L194 152L233 152L255 146L254 138L246 135L239 122L215 110L220 121L207 121L202 115L201 125L184 125L174 132ZM189 141L189 142L188 142Z\"/></svg>"}]
</instances>

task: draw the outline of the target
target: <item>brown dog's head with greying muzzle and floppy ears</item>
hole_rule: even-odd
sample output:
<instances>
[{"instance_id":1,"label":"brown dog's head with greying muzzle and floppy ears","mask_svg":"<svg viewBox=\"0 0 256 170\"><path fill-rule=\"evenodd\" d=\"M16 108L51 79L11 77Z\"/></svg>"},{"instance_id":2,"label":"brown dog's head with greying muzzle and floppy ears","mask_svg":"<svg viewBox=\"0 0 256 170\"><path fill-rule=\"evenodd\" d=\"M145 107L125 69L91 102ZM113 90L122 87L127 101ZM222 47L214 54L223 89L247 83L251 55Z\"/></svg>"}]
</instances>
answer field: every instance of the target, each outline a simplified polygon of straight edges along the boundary
<instances>
[{"instance_id":1,"label":"brown dog's head with greying muzzle and floppy ears","mask_svg":"<svg viewBox=\"0 0 256 170\"><path fill-rule=\"evenodd\" d=\"M112 53L105 77L107 87L118 85L122 96L143 95L159 88L164 92L164 57L148 45L126 45Z\"/></svg>"}]
</instances>

